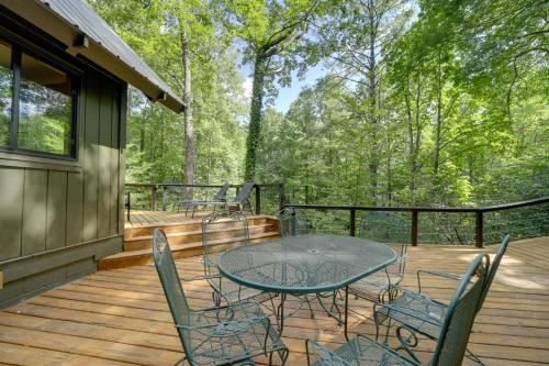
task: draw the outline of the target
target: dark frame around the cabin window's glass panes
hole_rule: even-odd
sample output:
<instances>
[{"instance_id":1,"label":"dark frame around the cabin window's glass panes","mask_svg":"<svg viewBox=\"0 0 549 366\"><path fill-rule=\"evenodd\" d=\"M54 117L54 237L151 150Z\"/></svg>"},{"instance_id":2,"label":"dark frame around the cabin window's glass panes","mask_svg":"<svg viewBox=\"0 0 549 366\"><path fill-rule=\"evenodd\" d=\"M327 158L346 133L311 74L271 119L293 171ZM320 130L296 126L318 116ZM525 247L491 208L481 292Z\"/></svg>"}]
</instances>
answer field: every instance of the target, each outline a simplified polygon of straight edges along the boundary
<instances>
[{"instance_id":1,"label":"dark frame around the cabin window's glass panes","mask_svg":"<svg viewBox=\"0 0 549 366\"><path fill-rule=\"evenodd\" d=\"M54 55L49 54L43 48L40 48L35 45L26 46L16 40L12 40L9 35L2 34L0 32L0 36L10 44L11 46L11 70L12 70L12 106L11 106L11 120L10 120L10 138L9 146L0 146L1 153L10 153L18 155L26 155L26 156L36 156L43 158L51 158L57 160L68 160L68 162L77 162L78 160L78 125L79 125L79 101L80 101L80 87L81 87L81 78L80 73L75 71L70 67L67 67L65 63L59 62ZM36 58L37 60L43 62L46 65L49 65L65 74L71 79L71 91L70 91L70 149L69 154L55 154L44 151L29 149L22 148L18 146L18 137L19 137L19 108L21 102L21 60L22 54L25 53L29 56Z\"/></svg>"}]
</instances>

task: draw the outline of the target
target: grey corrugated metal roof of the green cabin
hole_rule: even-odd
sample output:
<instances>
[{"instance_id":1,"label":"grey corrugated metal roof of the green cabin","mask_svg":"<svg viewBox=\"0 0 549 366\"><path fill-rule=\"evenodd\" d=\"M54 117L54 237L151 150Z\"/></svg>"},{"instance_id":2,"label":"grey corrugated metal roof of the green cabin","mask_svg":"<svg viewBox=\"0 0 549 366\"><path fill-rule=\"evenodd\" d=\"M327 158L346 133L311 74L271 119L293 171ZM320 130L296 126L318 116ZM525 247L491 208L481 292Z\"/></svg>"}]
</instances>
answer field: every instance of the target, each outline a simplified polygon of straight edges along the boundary
<instances>
[{"instance_id":1,"label":"grey corrugated metal roof of the green cabin","mask_svg":"<svg viewBox=\"0 0 549 366\"><path fill-rule=\"evenodd\" d=\"M112 30L93 9L82 0L38 0L49 7L72 26L78 27L91 41L120 58L143 75L159 89L178 100L176 93L163 79ZM180 102L180 101L179 101Z\"/></svg>"}]
</instances>

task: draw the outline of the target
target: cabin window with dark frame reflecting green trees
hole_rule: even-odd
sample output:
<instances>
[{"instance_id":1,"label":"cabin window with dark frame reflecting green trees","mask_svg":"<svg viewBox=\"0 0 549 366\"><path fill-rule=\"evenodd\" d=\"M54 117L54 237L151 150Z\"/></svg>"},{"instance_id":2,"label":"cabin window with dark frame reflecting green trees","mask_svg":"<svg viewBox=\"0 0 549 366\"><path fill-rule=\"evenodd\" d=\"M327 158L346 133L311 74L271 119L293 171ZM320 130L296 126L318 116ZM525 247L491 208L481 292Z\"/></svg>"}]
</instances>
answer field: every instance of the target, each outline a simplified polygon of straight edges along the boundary
<instances>
[{"instance_id":1,"label":"cabin window with dark frame reflecting green trees","mask_svg":"<svg viewBox=\"0 0 549 366\"><path fill-rule=\"evenodd\" d=\"M0 40L0 147L75 157L74 78Z\"/></svg>"}]
</instances>

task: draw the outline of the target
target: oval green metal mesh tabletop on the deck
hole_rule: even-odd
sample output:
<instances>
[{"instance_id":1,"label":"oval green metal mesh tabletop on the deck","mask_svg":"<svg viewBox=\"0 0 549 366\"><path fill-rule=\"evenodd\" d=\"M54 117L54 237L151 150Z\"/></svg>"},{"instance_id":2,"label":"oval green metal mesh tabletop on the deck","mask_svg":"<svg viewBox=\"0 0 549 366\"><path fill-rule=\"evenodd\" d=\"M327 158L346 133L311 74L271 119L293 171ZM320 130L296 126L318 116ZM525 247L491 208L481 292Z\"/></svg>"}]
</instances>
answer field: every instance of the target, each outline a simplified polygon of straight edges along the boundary
<instances>
[{"instance_id":1,"label":"oval green metal mesh tabletop on the deck","mask_svg":"<svg viewBox=\"0 0 549 366\"><path fill-rule=\"evenodd\" d=\"M231 280L280 293L317 293L345 287L396 260L390 247L363 239L299 235L223 253Z\"/></svg>"}]
</instances>

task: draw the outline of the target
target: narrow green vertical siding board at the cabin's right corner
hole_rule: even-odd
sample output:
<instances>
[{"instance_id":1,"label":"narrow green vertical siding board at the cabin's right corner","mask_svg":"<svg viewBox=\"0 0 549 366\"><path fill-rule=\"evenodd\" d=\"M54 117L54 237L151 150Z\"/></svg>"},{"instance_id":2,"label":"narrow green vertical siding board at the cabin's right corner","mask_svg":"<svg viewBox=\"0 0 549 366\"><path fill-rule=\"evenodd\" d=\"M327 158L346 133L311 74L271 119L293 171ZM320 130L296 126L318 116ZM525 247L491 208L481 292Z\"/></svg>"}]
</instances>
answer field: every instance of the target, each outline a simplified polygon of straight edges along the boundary
<instances>
[{"instance_id":1,"label":"narrow green vertical siding board at the cabin's right corner","mask_svg":"<svg viewBox=\"0 0 549 366\"><path fill-rule=\"evenodd\" d=\"M115 86L112 93L112 115L111 115L111 154L109 157L111 168L111 221L110 234L119 233L119 127L120 127L120 86Z\"/></svg>"}]
</instances>

